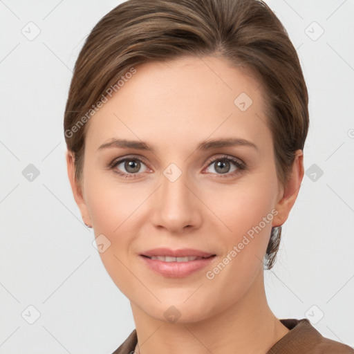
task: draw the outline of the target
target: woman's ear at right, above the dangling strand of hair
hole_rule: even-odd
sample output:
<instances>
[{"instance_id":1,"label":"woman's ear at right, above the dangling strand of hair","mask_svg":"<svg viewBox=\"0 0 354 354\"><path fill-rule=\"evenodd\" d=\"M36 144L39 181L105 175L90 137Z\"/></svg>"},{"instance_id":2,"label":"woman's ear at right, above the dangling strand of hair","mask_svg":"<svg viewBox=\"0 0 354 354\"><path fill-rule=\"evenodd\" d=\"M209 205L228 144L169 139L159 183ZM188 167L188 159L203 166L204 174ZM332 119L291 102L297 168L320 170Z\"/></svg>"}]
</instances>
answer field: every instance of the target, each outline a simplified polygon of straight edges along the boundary
<instances>
[{"instance_id":1,"label":"woman's ear at right, above the dangling strand of hair","mask_svg":"<svg viewBox=\"0 0 354 354\"><path fill-rule=\"evenodd\" d=\"M295 159L292 164L291 174L288 178L286 185L281 188L281 192L278 196L277 205L274 209L278 211L278 214L274 216L272 226L281 226L286 222L290 214L290 210L294 205L297 195L299 194L299 189L301 185L302 178L304 177L304 153L302 150L297 150L295 152Z\"/></svg>"}]
</instances>

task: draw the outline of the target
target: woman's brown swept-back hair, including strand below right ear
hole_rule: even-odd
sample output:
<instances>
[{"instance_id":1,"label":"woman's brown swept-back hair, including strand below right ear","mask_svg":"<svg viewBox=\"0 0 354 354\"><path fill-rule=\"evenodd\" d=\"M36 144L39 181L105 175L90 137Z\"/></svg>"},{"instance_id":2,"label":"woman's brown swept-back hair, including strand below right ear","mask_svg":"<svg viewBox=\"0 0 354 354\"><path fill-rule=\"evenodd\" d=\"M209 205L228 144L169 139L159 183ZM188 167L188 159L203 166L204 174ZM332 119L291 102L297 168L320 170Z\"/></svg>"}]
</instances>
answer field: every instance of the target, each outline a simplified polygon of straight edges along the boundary
<instances>
[{"instance_id":1,"label":"woman's brown swept-back hair, including strand below right ear","mask_svg":"<svg viewBox=\"0 0 354 354\"><path fill-rule=\"evenodd\" d=\"M64 114L66 145L75 157L79 183L85 123L100 100L106 99L112 87L116 91L118 80L134 66L185 55L218 56L257 77L266 95L277 176L286 183L295 151L304 149L308 91L286 29L257 0L129 0L97 23L75 63ZM274 265L280 239L281 226L272 227L265 254L267 269Z\"/></svg>"}]
</instances>

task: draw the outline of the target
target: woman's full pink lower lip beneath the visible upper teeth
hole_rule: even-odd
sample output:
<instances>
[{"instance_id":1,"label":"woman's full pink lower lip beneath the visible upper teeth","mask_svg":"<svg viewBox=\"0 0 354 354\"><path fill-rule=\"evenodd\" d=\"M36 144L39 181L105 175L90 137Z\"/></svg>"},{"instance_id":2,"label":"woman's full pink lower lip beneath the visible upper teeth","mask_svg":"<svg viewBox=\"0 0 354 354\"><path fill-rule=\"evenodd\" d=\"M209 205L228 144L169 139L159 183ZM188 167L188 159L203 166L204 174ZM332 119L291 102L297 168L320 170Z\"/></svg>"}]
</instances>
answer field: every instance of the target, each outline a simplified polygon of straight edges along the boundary
<instances>
[{"instance_id":1,"label":"woman's full pink lower lip beneath the visible upper teeth","mask_svg":"<svg viewBox=\"0 0 354 354\"><path fill-rule=\"evenodd\" d=\"M169 278L183 278L189 274L205 268L210 262L215 259L216 256L196 259L195 261L187 262L165 262L159 259L150 259L144 256L140 256L148 265L148 267L156 272Z\"/></svg>"}]
</instances>

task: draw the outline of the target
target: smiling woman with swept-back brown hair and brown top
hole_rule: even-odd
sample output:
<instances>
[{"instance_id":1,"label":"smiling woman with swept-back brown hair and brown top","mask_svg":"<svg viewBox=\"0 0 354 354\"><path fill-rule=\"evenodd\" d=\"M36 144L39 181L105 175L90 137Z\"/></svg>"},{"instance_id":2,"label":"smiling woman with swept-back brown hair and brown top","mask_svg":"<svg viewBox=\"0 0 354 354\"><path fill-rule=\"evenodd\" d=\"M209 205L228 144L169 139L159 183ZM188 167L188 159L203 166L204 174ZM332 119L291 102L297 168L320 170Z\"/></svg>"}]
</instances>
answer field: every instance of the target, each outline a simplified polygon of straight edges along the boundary
<instances>
[{"instance_id":1,"label":"smiling woman with swept-back brown hair and brown top","mask_svg":"<svg viewBox=\"0 0 354 354\"><path fill-rule=\"evenodd\" d=\"M129 0L93 28L64 133L136 324L115 354L354 353L265 296L307 132L296 50L261 1Z\"/></svg>"}]
</instances>

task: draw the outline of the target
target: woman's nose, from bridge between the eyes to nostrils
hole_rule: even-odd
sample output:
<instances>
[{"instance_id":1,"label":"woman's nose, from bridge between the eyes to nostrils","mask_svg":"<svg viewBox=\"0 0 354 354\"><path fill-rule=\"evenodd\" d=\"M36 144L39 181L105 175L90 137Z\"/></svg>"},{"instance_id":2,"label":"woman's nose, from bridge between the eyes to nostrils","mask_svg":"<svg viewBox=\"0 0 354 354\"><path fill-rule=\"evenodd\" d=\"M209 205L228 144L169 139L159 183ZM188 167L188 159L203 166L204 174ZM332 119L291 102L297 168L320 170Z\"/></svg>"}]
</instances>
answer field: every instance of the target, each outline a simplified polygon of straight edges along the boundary
<instances>
[{"instance_id":1,"label":"woman's nose, from bridge between the eyes to nostrils","mask_svg":"<svg viewBox=\"0 0 354 354\"><path fill-rule=\"evenodd\" d=\"M162 171L153 218L155 225L163 226L170 232L180 232L187 225L196 225L198 210L196 197L189 190L190 182L187 172L175 164Z\"/></svg>"}]
</instances>

